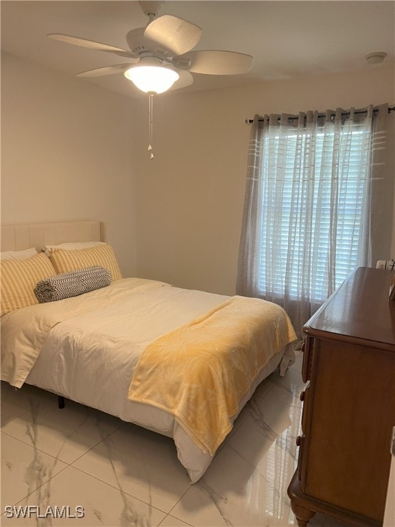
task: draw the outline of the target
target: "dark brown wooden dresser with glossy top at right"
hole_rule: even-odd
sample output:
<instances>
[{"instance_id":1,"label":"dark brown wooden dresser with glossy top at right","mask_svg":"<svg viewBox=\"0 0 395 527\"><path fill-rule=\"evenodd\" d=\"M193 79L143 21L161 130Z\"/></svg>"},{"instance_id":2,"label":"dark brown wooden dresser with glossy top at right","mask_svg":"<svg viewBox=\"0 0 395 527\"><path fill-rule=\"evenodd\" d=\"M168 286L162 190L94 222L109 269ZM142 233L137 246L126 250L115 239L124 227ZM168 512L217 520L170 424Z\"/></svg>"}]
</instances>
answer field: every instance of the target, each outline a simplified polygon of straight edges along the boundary
<instances>
[{"instance_id":1,"label":"dark brown wooden dresser with glossy top at right","mask_svg":"<svg viewBox=\"0 0 395 527\"><path fill-rule=\"evenodd\" d=\"M300 527L315 513L383 523L395 425L394 273L358 268L303 328L298 468L288 487Z\"/></svg>"}]
</instances>

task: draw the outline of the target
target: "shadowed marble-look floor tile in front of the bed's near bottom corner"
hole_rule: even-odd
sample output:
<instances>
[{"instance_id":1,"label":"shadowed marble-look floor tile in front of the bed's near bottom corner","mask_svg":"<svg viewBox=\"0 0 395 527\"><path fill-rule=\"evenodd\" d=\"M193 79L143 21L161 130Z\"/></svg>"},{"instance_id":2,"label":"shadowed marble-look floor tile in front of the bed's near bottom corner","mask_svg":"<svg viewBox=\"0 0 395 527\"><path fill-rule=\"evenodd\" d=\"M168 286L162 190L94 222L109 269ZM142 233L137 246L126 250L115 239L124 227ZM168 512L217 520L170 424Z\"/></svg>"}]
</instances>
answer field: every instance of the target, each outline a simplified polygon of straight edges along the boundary
<instances>
[{"instance_id":1,"label":"shadowed marble-look floor tile in front of the bed's near bottom corner","mask_svg":"<svg viewBox=\"0 0 395 527\"><path fill-rule=\"evenodd\" d=\"M173 441L131 423L73 466L167 513L190 485Z\"/></svg>"}]
</instances>

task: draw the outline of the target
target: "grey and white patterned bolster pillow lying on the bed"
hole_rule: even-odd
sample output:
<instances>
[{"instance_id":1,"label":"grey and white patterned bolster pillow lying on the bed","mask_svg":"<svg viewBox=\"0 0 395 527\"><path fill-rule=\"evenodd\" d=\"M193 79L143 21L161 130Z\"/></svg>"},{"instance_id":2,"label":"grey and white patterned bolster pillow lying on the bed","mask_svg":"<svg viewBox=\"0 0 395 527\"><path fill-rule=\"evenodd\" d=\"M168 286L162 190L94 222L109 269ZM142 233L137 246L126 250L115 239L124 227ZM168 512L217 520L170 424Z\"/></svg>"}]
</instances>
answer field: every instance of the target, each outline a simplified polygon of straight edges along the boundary
<instances>
[{"instance_id":1,"label":"grey and white patterned bolster pillow lying on the bed","mask_svg":"<svg viewBox=\"0 0 395 527\"><path fill-rule=\"evenodd\" d=\"M34 289L34 294L39 302L53 302L105 288L110 283L111 273L108 269L91 266L40 280Z\"/></svg>"}]
</instances>

